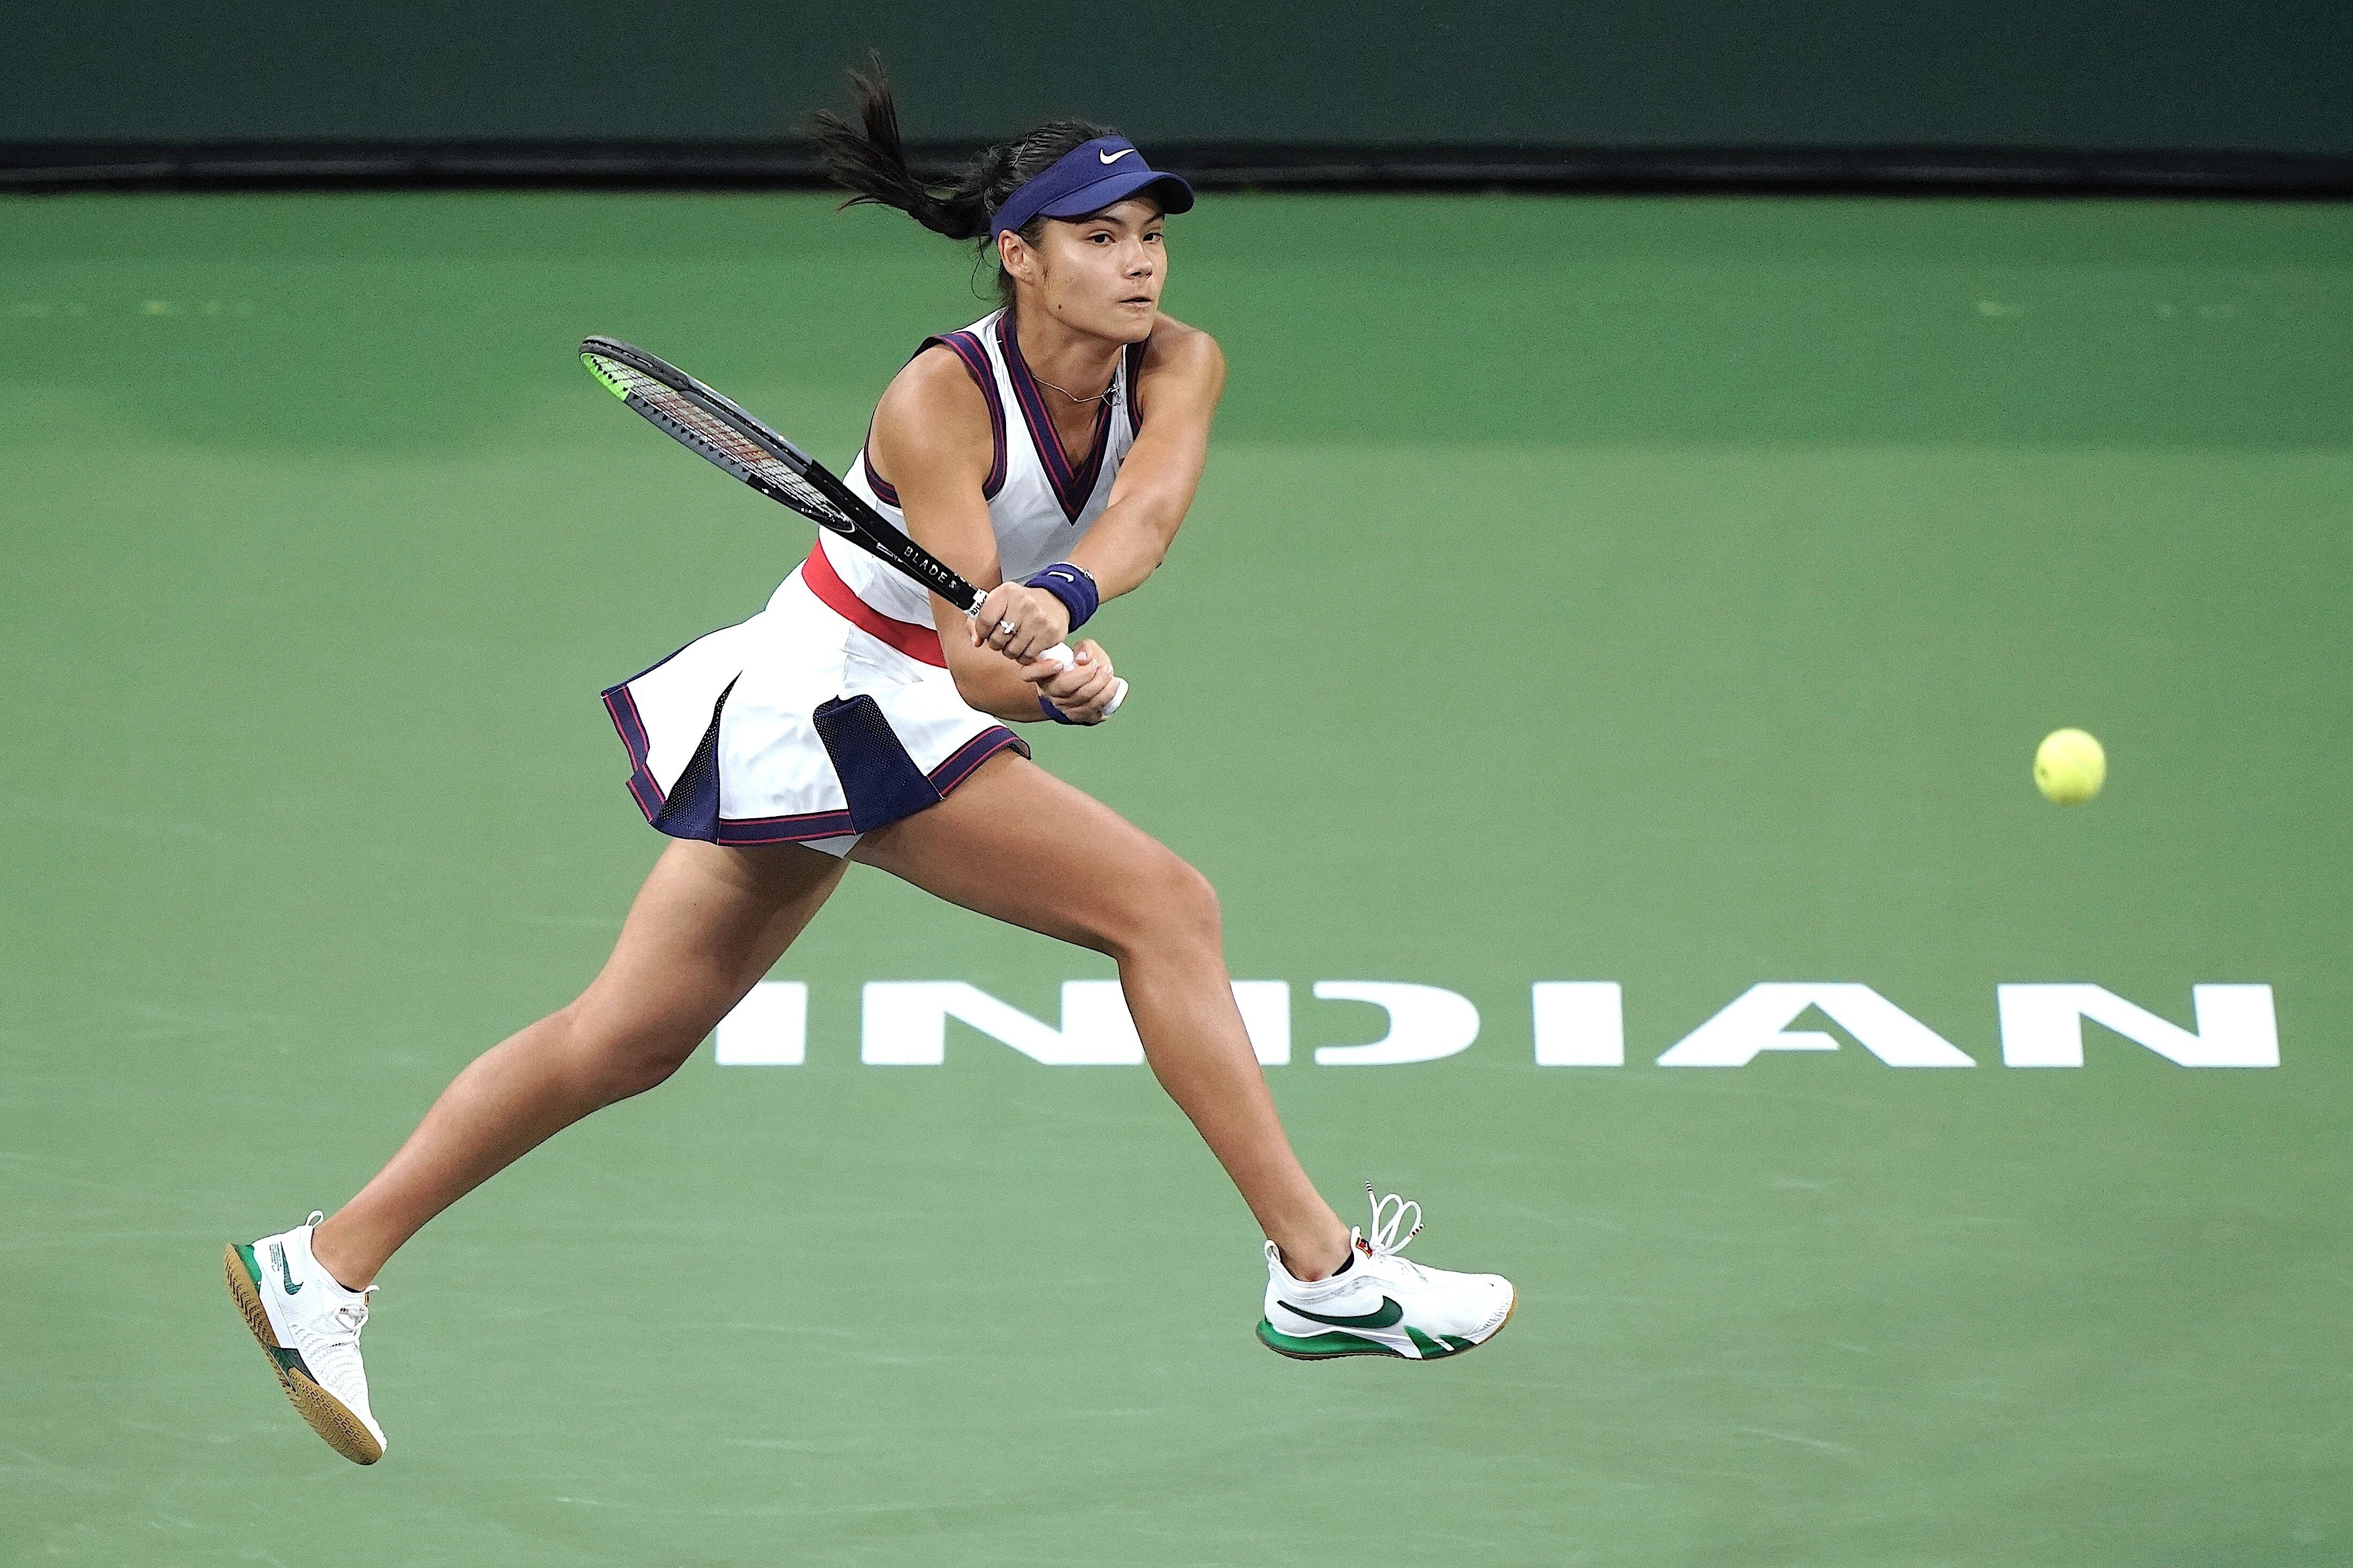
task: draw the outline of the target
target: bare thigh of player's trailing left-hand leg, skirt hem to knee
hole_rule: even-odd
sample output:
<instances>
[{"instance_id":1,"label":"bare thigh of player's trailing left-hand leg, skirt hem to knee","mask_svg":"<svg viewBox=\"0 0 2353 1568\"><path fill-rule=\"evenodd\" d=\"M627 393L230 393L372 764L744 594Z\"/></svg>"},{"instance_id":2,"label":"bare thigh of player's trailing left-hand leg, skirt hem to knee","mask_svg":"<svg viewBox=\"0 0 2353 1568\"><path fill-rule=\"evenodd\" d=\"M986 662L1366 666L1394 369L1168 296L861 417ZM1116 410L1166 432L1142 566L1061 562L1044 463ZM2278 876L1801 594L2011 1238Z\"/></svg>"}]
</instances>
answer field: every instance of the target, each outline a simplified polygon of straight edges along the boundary
<instances>
[{"instance_id":1,"label":"bare thigh of player's trailing left-hand leg, skirt hem to knee","mask_svg":"<svg viewBox=\"0 0 2353 1568\"><path fill-rule=\"evenodd\" d=\"M701 1039L767 973L842 879L800 844L673 839L638 889L605 969L572 1004L598 1037Z\"/></svg>"}]
</instances>

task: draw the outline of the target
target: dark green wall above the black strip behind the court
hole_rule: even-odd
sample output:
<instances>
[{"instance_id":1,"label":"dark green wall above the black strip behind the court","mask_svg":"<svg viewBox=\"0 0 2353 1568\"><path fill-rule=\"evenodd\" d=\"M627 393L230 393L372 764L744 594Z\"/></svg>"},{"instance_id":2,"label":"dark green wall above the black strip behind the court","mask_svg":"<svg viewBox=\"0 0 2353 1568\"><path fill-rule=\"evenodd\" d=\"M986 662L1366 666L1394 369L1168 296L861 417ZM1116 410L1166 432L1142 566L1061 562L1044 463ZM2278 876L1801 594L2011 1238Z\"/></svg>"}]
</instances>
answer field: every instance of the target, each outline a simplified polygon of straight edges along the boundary
<instances>
[{"instance_id":1,"label":"dark green wall above the black strip behind the court","mask_svg":"<svg viewBox=\"0 0 2353 1568\"><path fill-rule=\"evenodd\" d=\"M2353 153L2346 0L5 0L0 141L769 141L868 45L925 141Z\"/></svg>"}]
</instances>

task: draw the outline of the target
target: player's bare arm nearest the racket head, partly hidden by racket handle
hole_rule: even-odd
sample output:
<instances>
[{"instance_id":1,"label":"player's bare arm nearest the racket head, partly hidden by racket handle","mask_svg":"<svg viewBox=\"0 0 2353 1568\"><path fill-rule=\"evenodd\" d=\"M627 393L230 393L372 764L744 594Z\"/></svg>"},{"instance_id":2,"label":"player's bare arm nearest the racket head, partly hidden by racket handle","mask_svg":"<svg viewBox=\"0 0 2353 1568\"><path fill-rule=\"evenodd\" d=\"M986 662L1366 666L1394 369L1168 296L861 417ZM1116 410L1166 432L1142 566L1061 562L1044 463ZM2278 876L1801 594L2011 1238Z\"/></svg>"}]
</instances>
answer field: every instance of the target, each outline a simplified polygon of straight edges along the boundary
<instances>
[{"instance_id":1,"label":"player's bare arm nearest the racket head, partly hidden by racket handle","mask_svg":"<svg viewBox=\"0 0 2353 1568\"><path fill-rule=\"evenodd\" d=\"M1002 581L998 531L981 494L995 461L995 437L981 388L955 350L934 343L892 378L875 404L866 454L873 470L899 491L908 538L976 588ZM1061 609L1059 602L1054 609ZM1040 689L1068 698L1101 684L1108 696L1111 665L1094 642L1078 646L1085 656L1078 670L1059 675L1054 665L1019 665L995 649L972 646L965 611L939 595L932 595L932 621L955 691L981 712L1026 724L1042 717ZM1047 677L1054 677L1052 686L1033 684Z\"/></svg>"}]
</instances>

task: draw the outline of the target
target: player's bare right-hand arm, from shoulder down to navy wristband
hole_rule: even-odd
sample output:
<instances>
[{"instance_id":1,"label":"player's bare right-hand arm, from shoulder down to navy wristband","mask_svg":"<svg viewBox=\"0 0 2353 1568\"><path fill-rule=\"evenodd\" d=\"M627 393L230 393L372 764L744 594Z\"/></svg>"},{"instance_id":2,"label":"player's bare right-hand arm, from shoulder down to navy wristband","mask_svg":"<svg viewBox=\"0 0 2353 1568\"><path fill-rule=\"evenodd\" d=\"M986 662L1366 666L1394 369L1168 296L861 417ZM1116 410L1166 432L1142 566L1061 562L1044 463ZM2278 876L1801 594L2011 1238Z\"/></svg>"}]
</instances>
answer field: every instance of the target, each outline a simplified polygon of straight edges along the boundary
<instances>
[{"instance_id":1,"label":"player's bare right-hand arm, from shoulder down to navy wristband","mask_svg":"<svg viewBox=\"0 0 2353 1568\"><path fill-rule=\"evenodd\" d=\"M1136 371L1136 444L1111 482L1111 503L1087 538L1071 550L1106 599L1139 588L1176 541L1202 463L1209 461L1209 421L1226 390L1226 355L1200 327L1162 315Z\"/></svg>"}]
</instances>

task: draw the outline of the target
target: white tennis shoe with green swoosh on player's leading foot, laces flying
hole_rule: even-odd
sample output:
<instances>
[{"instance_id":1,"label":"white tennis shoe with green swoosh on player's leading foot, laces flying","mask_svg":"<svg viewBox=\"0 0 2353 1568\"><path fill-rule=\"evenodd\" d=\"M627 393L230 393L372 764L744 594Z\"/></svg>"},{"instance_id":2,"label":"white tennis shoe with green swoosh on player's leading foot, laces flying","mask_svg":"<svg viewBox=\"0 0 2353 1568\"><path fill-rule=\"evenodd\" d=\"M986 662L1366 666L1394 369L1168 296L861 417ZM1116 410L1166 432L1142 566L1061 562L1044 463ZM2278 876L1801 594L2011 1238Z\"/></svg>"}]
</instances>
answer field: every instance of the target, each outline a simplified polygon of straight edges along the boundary
<instances>
[{"instance_id":1,"label":"white tennis shoe with green swoosh on player's leading foot, laces flying","mask_svg":"<svg viewBox=\"0 0 2353 1568\"><path fill-rule=\"evenodd\" d=\"M1292 1279L1282 1253L1266 1244L1266 1316L1259 1340L1278 1356L1405 1356L1438 1361L1485 1345L1518 1305L1501 1274L1454 1274L1398 1258L1421 1234L1421 1204L1391 1192L1372 1197L1372 1237L1348 1232L1348 1267L1329 1279ZM1414 1227L1398 1239L1405 1211Z\"/></svg>"}]
</instances>

